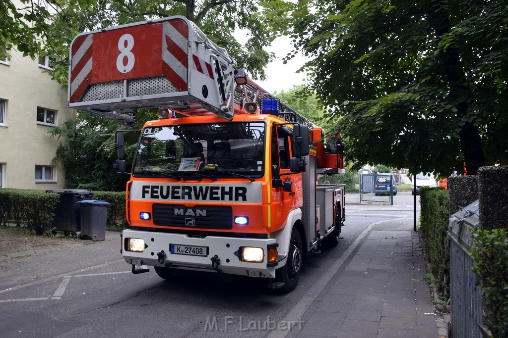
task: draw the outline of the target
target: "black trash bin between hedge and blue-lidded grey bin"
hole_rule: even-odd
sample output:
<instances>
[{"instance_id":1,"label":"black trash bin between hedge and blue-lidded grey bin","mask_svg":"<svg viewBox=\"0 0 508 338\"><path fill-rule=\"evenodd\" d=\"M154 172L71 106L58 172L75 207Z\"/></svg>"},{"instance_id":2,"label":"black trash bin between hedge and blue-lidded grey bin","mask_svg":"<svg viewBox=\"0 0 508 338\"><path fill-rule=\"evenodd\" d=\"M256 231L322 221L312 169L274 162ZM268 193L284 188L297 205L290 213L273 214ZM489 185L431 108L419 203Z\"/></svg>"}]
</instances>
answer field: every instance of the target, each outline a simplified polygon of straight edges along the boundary
<instances>
[{"instance_id":1,"label":"black trash bin between hedge and blue-lidded grey bin","mask_svg":"<svg viewBox=\"0 0 508 338\"><path fill-rule=\"evenodd\" d=\"M76 202L90 199L93 192L86 189L56 189L46 190L46 193L59 194L51 227L55 231L63 231L67 236L76 235L76 232L81 230L79 205Z\"/></svg>"}]
</instances>

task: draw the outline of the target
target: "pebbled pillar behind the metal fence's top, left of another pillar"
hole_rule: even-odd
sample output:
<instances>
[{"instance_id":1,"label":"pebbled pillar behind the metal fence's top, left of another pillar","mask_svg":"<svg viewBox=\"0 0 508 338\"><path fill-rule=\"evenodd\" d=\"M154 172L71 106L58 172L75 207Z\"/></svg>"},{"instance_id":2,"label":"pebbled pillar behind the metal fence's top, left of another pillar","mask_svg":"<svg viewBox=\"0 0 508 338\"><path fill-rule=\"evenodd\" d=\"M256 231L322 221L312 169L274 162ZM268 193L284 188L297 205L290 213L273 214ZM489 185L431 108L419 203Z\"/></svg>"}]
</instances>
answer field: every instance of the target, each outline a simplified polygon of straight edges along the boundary
<instances>
[{"instance_id":1,"label":"pebbled pillar behind the metal fence's top, left of another pillar","mask_svg":"<svg viewBox=\"0 0 508 338\"><path fill-rule=\"evenodd\" d=\"M478 200L478 176L448 177L450 215Z\"/></svg>"}]
</instances>

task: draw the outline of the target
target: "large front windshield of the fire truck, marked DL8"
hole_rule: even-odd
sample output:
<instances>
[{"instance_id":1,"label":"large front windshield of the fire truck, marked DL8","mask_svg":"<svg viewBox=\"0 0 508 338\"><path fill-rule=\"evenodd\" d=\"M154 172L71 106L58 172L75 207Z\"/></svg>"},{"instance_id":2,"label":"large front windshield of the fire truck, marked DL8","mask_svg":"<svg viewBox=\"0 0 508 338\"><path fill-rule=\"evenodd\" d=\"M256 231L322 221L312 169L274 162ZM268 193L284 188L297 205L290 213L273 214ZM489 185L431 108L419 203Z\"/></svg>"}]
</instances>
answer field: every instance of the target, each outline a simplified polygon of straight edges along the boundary
<instances>
[{"instance_id":1,"label":"large front windshield of the fire truck, marked DL8","mask_svg":"<svg viewBox=\"0 0 508 338\"><path fill-rule=\"evenodd\" d=\"M262 122L146 127L133 175L259 177L263 175L265 129Z\"/></svg>"}]
</instances>

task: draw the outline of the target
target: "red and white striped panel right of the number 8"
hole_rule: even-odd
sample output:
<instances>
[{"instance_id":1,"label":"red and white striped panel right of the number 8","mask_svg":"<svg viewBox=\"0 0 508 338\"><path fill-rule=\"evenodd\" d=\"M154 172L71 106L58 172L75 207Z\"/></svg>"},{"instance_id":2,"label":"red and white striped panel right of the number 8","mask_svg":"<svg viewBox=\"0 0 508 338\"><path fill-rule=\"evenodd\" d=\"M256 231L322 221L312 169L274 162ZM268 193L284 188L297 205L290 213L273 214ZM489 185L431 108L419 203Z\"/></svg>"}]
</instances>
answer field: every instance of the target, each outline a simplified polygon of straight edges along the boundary
<instances>
[{"instance_id":1,"label":"red and white striped panel right of the number 8","mask_svg":"<svg viewBox=\"0 0 508 338\"><path fill-rule=\"evenodd\" d=\"M162 72L179 90L187 91L188 27L185 21L174 19L163 23Z\"/></svg>"}]
</instances>

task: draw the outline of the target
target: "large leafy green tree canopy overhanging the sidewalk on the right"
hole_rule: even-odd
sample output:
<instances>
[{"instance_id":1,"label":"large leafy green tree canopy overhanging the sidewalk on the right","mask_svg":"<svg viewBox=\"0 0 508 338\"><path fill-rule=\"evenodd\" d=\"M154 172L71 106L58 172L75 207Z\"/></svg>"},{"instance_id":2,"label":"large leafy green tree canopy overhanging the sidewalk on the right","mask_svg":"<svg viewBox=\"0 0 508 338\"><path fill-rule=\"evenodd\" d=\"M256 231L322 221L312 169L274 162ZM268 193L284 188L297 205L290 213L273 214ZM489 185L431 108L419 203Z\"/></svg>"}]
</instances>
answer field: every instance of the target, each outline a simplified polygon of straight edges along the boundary
<instances>
[{"instance_id":1,"label":"large leafy green tree canopy overhanging the sidewalk on the right","mask_svg":"<svg viewBox=\"0 0 508 338\"><path fill-rule=\"evenodd\" d=\"M447 175L508 162L505 3L303 1L292 35L357 167Z\"/></svg>"}]
</instances>

